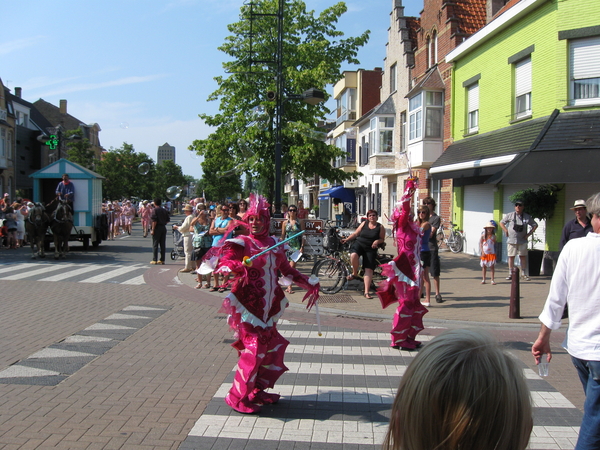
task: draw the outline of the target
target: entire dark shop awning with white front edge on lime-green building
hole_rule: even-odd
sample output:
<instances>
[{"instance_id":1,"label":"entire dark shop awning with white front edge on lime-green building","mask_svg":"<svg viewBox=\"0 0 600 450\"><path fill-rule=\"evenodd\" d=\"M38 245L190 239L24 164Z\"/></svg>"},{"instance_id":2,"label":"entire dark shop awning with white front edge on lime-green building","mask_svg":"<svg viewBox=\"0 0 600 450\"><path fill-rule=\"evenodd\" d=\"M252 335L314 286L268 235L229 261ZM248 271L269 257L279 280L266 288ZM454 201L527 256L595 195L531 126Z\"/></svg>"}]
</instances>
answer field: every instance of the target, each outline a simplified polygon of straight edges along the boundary
<instances>
[{"instance_id":1,"label":"entire dark shop awning with white front edge on lime-green building","mask_svg":"<svg viewBox=\"0 0 600 450\"><path fill-rule=\"evenodd\" d=\"M591 183L600 176L600 111L560 112L450 145L431 166L455 185Z\"/></svg>"}]
</instances>

